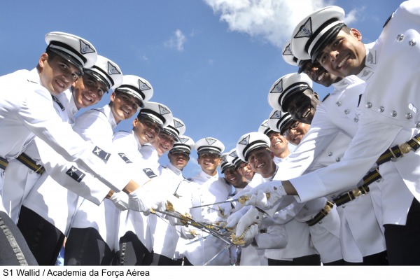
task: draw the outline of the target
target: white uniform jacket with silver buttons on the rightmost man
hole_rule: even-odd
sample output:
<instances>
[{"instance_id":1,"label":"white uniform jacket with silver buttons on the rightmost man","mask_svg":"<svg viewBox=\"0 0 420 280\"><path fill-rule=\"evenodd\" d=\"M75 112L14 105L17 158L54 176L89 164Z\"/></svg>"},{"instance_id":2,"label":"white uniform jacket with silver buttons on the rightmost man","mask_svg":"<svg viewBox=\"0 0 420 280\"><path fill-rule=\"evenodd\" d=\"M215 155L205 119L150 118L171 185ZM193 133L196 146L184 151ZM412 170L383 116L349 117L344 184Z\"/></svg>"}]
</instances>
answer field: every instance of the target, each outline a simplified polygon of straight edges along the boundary
<instances>
[{"instance_id":1,"label":"white uniform jacket with silver buttons on the rightmost man","mask_svg":"<svg viewBox=\"0 0 420 280\"><path fill-rule=\"evenodd\" d=\"M406 1L393 13L377 42L371 49L367 48L365 69L358 74L367 83L358 108L358 132L340 162L290 180L301 200L355 186L387 148L419 133L419 30L420 3ZM399 174L405 186L420 198L419 151L386 162L379 167L379 173L384 178L381 182L384 186L389 186L386 181L395 179L388 180L388 176ZM313 186L310 191L305 188L307 181ZM384 211L382 218L385 224L403 225L412 201L402 193L401 184L392 185L382 191L382 205L395 211ZM396 204L395 197L401 199ZM403 208L405 211L401 211Z\"/></svg>"}]
</instances>

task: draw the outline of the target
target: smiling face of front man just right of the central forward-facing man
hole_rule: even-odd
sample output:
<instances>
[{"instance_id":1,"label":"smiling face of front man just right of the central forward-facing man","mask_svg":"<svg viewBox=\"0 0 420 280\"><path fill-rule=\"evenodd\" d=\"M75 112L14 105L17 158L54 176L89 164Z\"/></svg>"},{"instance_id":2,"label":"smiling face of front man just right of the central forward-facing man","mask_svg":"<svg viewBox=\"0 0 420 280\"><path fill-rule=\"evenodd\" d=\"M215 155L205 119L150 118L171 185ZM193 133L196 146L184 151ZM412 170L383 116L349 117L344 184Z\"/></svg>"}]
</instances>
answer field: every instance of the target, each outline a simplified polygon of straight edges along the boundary
<instances>
[{"instance_id":1,"label":"smiling face of front man just right of the central forward-facing man","mask_svg":"<svg viewBox=\"0 0 420 280\"><path fill-rule=\"evenodd\" d=\"M257 148L248 155L248 163L262 177L272 176L276 171L273 162L274 154L268 148Z\"/></svg>"}]
</instances>

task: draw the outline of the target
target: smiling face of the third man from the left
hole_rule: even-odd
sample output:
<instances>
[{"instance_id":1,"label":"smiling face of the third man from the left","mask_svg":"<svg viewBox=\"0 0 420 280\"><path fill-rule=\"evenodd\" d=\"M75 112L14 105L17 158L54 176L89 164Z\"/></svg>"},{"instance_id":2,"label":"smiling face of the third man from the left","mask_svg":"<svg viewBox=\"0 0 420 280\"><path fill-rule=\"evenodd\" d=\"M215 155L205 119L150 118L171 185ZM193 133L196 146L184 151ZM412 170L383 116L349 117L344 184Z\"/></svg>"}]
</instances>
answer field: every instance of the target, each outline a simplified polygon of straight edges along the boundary
<instances>
[{"instance_id":1,"label":"smiling face of the third man from the left","mask_svg":"<svg viewBox=\"0 0 420 280\"><path fill-rule=\"evenodd\" d=\"M111 102L111 111L117 123L131 118L139 108L139 99L122 92L113 92Z\"/></svg>"}]
</instances>

